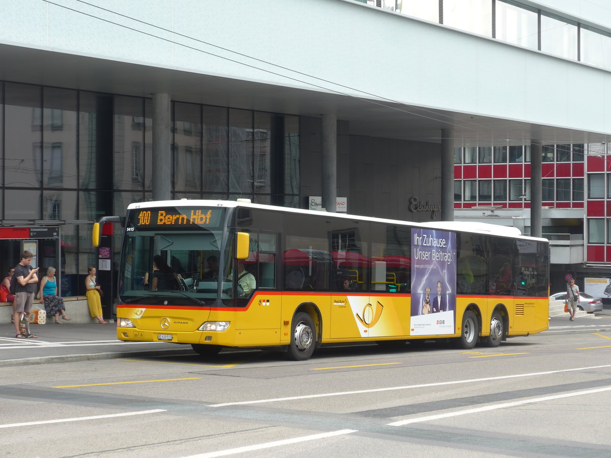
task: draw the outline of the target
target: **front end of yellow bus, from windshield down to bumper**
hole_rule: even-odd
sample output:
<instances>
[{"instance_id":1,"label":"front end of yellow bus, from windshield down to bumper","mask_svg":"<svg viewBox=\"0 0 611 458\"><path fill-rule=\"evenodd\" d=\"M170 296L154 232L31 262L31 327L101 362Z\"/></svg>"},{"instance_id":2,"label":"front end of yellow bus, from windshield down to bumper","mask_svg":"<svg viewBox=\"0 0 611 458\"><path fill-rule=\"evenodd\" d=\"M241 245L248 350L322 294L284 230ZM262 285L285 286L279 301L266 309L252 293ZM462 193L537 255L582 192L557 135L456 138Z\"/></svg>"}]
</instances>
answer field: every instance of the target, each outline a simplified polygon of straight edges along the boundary
<instances>
[{"instance_id":1,"label":"front end of yellow bus, from windshield down to bumper","mask_svg":"<svg viewBox=\"0 0 611 458\"><path fill-rule=\"evenodd\" d=\"M164 205L170 204L170 205ZM235 236L227 208L132 204L119 269L117 338L232 346ZM202 345L203 346L203 345Z\"/></svg>"}]
</instances>

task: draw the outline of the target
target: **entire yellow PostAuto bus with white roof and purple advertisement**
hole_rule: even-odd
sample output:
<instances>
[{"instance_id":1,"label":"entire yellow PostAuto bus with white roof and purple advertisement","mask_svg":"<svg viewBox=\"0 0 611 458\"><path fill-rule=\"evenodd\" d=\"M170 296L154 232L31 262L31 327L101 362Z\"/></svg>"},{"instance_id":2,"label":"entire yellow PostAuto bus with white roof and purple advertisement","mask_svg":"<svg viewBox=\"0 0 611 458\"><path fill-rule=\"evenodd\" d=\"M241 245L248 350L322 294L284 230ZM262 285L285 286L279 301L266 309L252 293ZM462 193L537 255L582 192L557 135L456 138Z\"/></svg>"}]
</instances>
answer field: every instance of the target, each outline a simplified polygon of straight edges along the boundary
<instances>
[{"instance_id":1,"label":"entire yellow PostAuto bus with white roof and purple advertisement","mask_svg":"<svg viewBox=\"0 0 611 458\"><path fill-rule=\"evenodd\" d=\"M548 327L549 242L486 224L419 224L238 200L133 203L117 337L268 347L448 340L471 349Z\"/></svg>"}]
</instances>

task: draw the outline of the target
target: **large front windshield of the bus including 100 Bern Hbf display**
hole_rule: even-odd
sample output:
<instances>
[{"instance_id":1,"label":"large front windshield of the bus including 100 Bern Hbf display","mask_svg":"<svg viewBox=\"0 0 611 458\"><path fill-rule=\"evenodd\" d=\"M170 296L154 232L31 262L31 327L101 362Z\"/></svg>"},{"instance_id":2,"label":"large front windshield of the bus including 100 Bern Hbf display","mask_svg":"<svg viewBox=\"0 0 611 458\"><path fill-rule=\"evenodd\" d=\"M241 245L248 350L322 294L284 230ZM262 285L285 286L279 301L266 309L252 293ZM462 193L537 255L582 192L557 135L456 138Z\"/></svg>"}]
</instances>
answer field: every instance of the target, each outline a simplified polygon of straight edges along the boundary
<instances>
[{"instance_id":1,"label":"large front windshield of the bus including 100 Bern Hbf display","mask_svg":"<svg viewBox=\"0 0 611 458\"><path fill-rule=\"evenodd\" d=\"M123 240L120 300L211 305L219 297L219 286L221 299L230 299L232 280L221 269L227 259L221 252L223 221L224 209L131 210Z\"/></svg>"}]
</instances>

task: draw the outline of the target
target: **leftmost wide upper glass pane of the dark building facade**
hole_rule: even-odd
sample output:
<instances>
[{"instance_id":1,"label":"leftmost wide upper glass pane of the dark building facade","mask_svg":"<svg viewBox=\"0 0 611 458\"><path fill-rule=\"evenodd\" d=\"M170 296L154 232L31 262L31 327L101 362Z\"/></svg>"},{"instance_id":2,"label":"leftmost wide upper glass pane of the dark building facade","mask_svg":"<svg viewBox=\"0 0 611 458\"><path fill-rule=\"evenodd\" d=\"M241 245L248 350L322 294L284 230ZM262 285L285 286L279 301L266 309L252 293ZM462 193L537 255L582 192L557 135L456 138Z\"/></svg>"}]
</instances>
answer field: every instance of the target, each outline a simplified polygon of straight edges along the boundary
<instances>
[{"instance_id":1,"label":"leftmost wide upper glass pane of the dark building facade","mask_svg":"<svg viewBox=\"0 0 611 458\"><path fill-rule=\"evenodd\" d=\"M40 187L43 150L42 88L7 82L5 89L5 185Z\"/></svg>"}]
</instances>

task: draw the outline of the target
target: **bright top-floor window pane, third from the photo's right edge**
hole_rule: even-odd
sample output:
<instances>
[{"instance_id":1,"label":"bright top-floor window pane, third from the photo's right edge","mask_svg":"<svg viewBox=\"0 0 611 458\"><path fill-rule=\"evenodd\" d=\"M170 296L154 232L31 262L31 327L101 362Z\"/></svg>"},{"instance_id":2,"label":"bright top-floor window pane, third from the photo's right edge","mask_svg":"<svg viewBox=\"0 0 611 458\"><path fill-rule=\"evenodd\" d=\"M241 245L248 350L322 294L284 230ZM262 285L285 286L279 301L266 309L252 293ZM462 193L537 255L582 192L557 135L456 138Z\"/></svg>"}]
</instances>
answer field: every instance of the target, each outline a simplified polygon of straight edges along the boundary
<instances>
[{"instance_id":1,"label":"bright top-floor window pane, third from the photo's right edge","mask_svg":"<svg viewBox=\"0 0 611 458\"><path fill-rule=\"evenodd\" d=\"M538 49L537 13L524 7L496 2L496 38L512 45Z\"/></svg>"}]
</instances>

